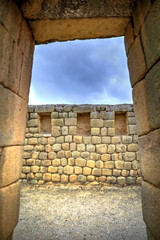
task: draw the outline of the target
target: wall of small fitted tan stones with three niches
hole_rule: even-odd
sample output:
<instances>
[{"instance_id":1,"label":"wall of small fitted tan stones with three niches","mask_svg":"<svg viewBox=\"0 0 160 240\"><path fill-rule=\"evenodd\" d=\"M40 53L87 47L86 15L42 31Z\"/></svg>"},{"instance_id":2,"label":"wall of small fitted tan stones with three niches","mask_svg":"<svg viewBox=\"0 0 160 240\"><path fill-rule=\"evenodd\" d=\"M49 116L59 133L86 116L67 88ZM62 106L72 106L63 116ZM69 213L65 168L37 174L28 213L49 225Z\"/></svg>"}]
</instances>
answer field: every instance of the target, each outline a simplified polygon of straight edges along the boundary
<instances>
[{"instance_id":1,"label":"wall of small fitted tan stones with three niches","mask_svg":"<svg viewBox=\"0 0 160 240\"><path fill-rule=\"evenodd\" d=\"M23 182L140 183L132 105L29 106Z\"/></svg>"}]
</instances>

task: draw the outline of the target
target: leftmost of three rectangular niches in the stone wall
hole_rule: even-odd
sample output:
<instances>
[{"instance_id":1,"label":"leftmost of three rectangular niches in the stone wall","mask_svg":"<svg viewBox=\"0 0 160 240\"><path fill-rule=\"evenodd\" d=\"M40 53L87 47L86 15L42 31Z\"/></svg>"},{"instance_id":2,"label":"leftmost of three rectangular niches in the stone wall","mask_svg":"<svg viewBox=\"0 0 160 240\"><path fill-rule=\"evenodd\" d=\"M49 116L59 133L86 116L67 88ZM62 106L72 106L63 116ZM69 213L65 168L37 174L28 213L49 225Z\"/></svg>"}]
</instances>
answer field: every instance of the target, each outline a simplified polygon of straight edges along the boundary
<instances>
[{"instance_id":1,"label":"leftmost of three rectangular niches in the stone wall","mask_svg":"<svg viewBox=\"0 0 160 240\"><path fill-rule=\"evenodd\" d=\"M39 114L39 133L51 134L51 113Z\"/></svg>"}]
</instances>

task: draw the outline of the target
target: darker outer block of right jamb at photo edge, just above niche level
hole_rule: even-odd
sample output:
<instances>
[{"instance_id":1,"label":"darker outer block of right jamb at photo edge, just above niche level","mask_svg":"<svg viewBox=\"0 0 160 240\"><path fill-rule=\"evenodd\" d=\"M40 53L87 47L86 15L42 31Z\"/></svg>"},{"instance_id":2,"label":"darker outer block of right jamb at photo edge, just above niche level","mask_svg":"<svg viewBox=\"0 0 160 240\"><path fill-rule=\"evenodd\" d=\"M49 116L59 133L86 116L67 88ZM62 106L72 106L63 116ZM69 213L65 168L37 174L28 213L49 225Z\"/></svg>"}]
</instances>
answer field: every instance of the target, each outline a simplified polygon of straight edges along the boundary
<instances>
[{"instance_id":1,"label":"darker outer block of right jamb at photo edge, just above niche level","mask_svg":"<svg viewBox=\"0 0 160 240\"><path fill-rule=\"evenodd\" d=\"M159 55L160 56L160 55ZM160 128L160 60L145 77L148 115L153 129Z\"/></svg>"}]
</instances>

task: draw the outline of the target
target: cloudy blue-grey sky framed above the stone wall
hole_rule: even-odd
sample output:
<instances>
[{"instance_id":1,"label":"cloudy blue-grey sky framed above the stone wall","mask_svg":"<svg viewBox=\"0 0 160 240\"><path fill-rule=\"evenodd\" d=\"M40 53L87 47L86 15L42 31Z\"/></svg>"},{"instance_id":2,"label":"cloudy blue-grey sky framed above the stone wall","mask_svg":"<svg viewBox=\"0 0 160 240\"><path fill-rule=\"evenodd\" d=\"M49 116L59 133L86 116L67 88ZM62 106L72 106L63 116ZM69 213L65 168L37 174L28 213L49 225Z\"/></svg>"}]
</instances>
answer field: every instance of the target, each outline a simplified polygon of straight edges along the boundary
<instances>
[{"instance_id":1,"label":"cloudy blue-grey sky framed above the stone wall","mask_svg":"<svg viewBox=\"0 0 160 240\"><path fill-rule=\"evenodd\" d=\"M124 39L35 48L29 104L132 103Z\"/></svg>"}]
</instances>

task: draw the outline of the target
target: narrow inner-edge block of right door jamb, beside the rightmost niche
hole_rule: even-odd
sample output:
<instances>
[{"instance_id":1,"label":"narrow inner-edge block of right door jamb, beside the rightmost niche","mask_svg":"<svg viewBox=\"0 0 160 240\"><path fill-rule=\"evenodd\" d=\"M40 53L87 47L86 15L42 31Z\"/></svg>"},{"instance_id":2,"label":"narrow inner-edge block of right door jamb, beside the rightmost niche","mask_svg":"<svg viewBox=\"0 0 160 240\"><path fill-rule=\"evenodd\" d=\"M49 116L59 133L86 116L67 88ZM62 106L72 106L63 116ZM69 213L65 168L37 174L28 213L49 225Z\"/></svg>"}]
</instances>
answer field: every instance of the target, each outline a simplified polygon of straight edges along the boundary
<instances>
[{"instance_id":1,"label":"narrow inner-edge block of right door jamb, beside the rightmost niche","mask_svg":"<svg viewBox=\"0 0 160 240\"><path fill-rule=\"evenodd\" d=\"M142 80L133 87L133 102L138 135L143 135L151 130L146 94L145 80Z\"/></svg>"}]
</instances>

